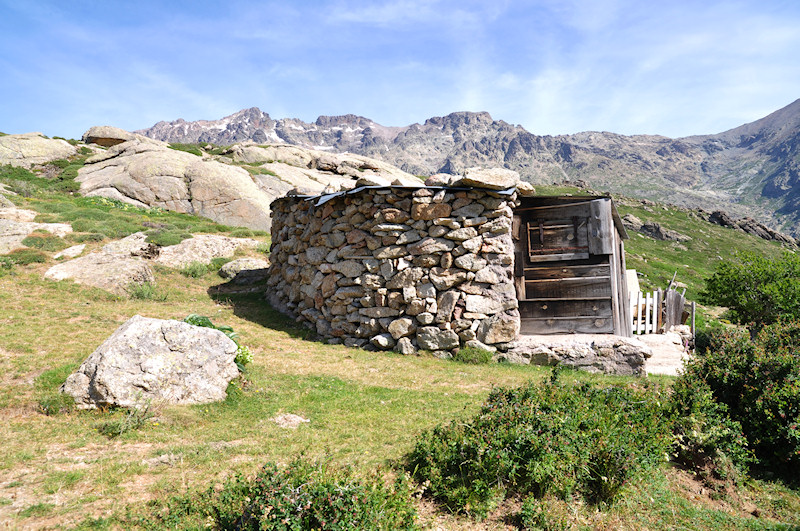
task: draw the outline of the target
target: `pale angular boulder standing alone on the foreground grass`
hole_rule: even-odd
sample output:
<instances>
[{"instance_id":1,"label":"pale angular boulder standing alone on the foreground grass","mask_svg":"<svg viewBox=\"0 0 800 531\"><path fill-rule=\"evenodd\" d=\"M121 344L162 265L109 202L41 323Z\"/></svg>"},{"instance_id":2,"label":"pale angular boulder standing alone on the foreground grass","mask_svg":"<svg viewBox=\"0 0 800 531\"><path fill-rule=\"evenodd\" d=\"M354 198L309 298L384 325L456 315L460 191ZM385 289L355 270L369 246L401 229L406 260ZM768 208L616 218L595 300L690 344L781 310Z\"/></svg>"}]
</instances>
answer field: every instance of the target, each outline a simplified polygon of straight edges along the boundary
<instances>
[{"instance_id":1,"label":"pale angular boulder standing alone on the foreground grass","mask_svg":"<svg viewBox=\"0 0 800 531\"><path fill-rule=\"evenodd\" d=\"M133 316L61 386L80 409L223 400L236 344L212 328Z\"/></svg>"}]
</instances>

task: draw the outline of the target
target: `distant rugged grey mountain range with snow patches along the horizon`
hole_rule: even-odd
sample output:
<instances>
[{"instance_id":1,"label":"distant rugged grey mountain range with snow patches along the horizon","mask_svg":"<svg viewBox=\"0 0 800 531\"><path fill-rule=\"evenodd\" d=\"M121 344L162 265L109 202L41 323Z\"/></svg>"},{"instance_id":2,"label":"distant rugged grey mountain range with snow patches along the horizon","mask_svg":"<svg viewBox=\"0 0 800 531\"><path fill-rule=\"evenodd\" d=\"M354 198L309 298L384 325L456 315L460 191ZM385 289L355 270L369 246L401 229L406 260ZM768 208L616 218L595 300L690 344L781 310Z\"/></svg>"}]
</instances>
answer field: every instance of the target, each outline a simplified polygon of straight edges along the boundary
<instances>
[{"instance_id":1,"label":"distant rugged grey mountain range with snow patches along the horizon","mask_svg":"<svg viewBox=\"0 0 800 531\"><path fill-rule=\"evenodd\" d=\"M456 112L403 127L352 114L307 123L275 120L256 107L219 120L162 121L137 132L174 143L249 140L352 152L418 175L500 166L534 185L585 183L678 206L723 209L800 235L800 99L729 131L683 138L609 132L540 136L487 112Z\"/></svg>"}]
</instances>

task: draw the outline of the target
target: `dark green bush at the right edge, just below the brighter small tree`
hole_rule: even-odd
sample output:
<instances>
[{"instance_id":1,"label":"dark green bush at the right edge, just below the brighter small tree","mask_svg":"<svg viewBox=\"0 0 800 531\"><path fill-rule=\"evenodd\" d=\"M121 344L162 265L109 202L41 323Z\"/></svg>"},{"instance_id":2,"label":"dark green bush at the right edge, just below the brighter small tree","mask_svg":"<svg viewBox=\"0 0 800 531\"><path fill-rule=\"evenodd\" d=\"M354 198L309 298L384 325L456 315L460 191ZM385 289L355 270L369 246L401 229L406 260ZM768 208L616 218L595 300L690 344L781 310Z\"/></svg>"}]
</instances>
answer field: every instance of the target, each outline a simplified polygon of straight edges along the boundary
<instances>
[{"instance_id":1,"label":"dark green bush at the right edge, just below the brighter small tree","mask_svg":"<svg viewBox=\"0 0 800 531\"><path fill-rule=\"evenodd\" d=\"M800 477L800 322L763 327L752 340L744 330L714 334L709 350L686 366L681 385L708 386L741 424L760 467Z\"/></svg>"}]
</instances>

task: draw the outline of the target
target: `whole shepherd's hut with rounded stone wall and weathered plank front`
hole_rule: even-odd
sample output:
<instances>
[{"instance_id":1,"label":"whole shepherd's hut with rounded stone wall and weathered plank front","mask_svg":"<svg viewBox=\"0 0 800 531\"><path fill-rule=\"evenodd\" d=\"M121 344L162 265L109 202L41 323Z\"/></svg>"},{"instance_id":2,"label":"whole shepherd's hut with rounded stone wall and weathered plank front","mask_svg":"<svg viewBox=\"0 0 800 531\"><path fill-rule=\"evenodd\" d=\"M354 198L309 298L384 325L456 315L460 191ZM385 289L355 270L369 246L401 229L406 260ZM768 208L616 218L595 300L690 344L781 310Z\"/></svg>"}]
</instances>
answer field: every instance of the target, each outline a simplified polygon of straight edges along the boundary
<instances>
[{"instance_id":1,"label":"whole shepherd's hut with rounded stone wall and weathered plank front","mask_svg":"<svg viewBox=\"0 0 800 531\"><path fill-rule=\"evenodd\" d=\"M329 342L530 362L520 333L630 336L609 198L362 186L271 210L268 300Z\"/></svg>"}]
</instances>

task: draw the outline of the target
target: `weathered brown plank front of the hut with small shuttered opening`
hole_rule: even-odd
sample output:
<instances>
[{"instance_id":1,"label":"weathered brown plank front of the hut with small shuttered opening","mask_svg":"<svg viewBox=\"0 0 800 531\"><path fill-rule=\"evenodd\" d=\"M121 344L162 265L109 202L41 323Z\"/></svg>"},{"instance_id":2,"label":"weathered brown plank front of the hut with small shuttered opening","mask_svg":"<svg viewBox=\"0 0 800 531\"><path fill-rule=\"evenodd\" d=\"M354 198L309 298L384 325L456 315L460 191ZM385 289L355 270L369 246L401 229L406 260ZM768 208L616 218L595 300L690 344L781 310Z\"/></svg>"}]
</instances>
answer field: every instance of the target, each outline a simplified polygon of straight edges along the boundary
<instances>
[{"instance_id":1,"label":"weathered brown plank front of the hut with small shuttered opening","mask_svg":"<svg viewBox=\"0 0 800 531\"><path fill-rule=\"evenodd\" d=\"M520 333L632 335L627 233L610 198L522 198L512 237Z\"/></svg>"}]
</instances>

